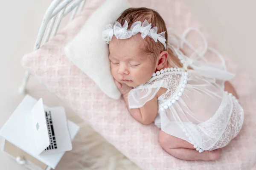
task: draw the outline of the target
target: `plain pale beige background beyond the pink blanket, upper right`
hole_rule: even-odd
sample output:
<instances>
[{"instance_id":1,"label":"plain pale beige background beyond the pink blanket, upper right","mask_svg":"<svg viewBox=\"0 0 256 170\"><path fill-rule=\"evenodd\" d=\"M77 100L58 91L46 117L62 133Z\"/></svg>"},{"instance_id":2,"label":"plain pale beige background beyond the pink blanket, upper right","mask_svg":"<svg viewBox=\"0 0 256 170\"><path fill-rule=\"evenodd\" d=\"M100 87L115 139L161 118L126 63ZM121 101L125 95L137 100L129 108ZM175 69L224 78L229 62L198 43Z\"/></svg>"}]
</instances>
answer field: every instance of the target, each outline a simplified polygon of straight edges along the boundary
<instances>
[{"instance_id":1,"label":"plain pale beige background beyond the pink blanket, upper right","mask_svg":"<svg viewBox=\"0 0 256 170\"><path fill-rule=\"evenodd\" d=\"M207 27L218 47L256 81L256 1L181 0Z\"/></svg>"}]
</instances>

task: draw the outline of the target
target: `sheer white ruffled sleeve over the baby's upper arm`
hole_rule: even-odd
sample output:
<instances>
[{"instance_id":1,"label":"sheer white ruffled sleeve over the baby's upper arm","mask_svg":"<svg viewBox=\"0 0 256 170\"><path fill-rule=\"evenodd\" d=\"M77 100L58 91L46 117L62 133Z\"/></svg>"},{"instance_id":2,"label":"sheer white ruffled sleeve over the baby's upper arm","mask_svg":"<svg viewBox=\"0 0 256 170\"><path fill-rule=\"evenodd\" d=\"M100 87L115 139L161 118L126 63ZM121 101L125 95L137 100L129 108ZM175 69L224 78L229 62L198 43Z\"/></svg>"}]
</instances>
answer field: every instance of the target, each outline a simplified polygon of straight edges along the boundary
<instances>
[{"instance_id":1,"label":"sheer white ruffled sleeve over the baby's upper arm","mask_svg":"<svg viewBox=\"0 0 256 170\"><path fill-rule=\"evenodd\" d=\"M163 80L156 81L153 84L140 85L132 89L128 94L129 108L141 108L146 102L153 99L163 85Z\"/></svg>"}]
</instances>

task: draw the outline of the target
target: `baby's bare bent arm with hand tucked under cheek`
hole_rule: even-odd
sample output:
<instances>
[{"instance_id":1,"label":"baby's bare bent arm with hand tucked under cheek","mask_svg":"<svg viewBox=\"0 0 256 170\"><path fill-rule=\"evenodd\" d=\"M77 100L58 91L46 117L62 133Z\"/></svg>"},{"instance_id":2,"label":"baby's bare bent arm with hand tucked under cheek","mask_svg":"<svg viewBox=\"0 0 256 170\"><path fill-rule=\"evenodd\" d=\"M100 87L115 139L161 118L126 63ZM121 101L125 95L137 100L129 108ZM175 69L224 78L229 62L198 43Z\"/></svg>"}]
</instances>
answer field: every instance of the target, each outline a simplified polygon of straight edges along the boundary
<instances>
[{"instance_id":1,"label":"baby's bare bent arm with hand tucked under cheek","mask_svg":"<svg viewBox=\"0 0 256 170\"><path fill-rule=\"evenodd\" d=\"M131 116L134 117L138 122L142 123L143 125L150 125L154 122L154 119L157 116L157 109L158 109L158 103L157 103L157 96L155 96L153 99L148 101L143 107L141 108L129 108L128 103L128 93L132 89L131 87L128 87L127 85L121 84L119 82L116 82L117 88L121 92L123 99L125 100L125 104L128 108L128 111L131 113Z\"/></svg>"}]
</instances>

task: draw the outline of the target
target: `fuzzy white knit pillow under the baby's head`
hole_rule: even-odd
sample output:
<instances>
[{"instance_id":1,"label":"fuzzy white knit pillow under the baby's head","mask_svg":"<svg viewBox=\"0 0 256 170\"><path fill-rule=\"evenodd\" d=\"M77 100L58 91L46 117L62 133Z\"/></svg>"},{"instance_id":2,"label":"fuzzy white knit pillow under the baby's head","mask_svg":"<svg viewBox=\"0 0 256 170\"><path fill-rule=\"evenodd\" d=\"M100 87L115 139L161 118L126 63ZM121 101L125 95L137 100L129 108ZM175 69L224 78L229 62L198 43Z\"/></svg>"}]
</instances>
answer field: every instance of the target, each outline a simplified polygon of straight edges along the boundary
<instances>
[{"instance_id":1,"label":"fuzzy white knit pillow under the baby's head","mask_svg":"<svg viewBox=\"0 0 256 170\"><path fill-rule=\"evenodd\" d=\"M106 0L65 47L67 57L113 99L121 94L111 75L108 44L102 39L102 31L129 7L127 0Z\"/></svg>"}]
</instances>

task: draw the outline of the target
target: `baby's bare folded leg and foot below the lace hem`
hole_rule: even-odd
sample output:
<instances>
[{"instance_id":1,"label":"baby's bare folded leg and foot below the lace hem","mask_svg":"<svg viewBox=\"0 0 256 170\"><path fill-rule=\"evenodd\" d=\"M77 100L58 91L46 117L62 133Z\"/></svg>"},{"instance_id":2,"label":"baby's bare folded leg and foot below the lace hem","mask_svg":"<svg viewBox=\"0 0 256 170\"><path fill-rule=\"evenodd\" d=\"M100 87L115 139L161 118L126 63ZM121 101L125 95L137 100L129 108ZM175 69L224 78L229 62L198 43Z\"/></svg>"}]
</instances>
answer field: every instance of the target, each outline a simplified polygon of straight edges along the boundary
<instances>
[{"instance_id":1,"label":"baby's bare folded leg and foot below the lace hem","mask_svg":"<svg viewBox=\"0 0 256 170\"><path fill-rule=\"evenodd\" d=\"M183 160L216 160L220 156L219 150L204 151L199 153L189 142L169 135L162 130L159 133L161 147L170 155Z\"/></svg>"}]
</instances>

